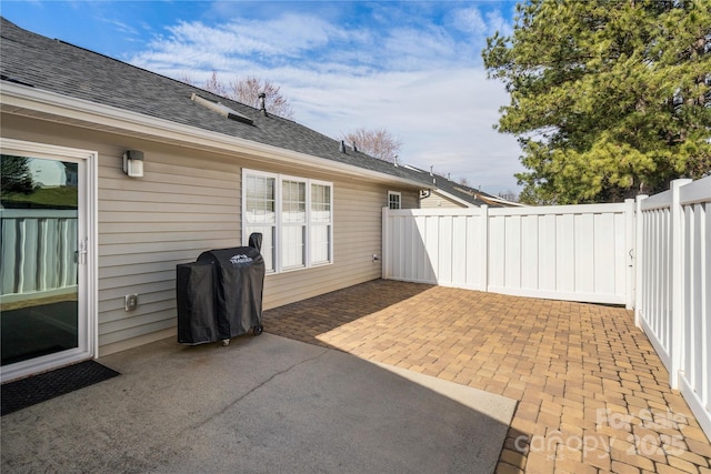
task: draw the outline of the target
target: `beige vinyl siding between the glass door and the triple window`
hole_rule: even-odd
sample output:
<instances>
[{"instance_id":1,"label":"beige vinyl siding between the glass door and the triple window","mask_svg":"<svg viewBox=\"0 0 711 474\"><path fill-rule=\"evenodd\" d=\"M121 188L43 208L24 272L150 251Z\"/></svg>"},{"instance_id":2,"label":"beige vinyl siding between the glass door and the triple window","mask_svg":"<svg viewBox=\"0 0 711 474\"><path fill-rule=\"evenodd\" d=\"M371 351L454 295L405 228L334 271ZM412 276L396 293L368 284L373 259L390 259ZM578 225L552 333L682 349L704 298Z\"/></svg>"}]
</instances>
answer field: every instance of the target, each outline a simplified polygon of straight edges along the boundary
<instances>
[{"instance_id":1,"label":"beige vinyl siding between the glass door and the triple window","mask_svg":"<svg viewBox=\"0 0 711 474\"><path fill-rule=\"evenodd\" d=\"M153 145L154 147L154 145ZM99 160L99 346L176 327L176 265L240 243L238 163L206 153L141 149L144 175L130 179L119 155ZM150 151L149 151L150 150ZM136 311L123 309L139 294Z\"/></svg>"}]
</instances>

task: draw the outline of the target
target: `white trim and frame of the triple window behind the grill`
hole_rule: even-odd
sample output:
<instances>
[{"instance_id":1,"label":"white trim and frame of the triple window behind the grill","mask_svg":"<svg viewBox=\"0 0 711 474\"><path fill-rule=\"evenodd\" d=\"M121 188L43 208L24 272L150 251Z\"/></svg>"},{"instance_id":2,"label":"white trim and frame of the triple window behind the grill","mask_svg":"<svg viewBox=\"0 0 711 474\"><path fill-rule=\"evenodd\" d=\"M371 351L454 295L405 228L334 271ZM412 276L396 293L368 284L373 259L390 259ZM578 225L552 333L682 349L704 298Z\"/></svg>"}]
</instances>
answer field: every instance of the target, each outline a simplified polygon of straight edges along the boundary
<instances>
[{"instance_id":1,"label":"white trim and frame of the triple window behind the grill","mask_svg":"<svg viewBox=\"0 0 711 474\"><path fill-rule=\"evenodd\" d=\"M276 222L274 224L262 224L262 225L273 225L274 226L274 269L268 270L267 274L279 274L287 272L294 272L306 269L312 269L317 266L332 265L333 264L333 183L330 181L321 181L321 180L312 180L302 177L294 177L290 174L279 174L279 173L270 173L267 171L258 171L251 169L242 169L242 242L247 242L249 240L249 231L248 228L250 223L247 222L247 178L248 177L261 177L261 178L272 178L274 179L274 213L276 213ZM297 181L306 184L306 239L304 239L304 264L298 266L283 266L283 255L282 255L282 229L284 226L289 226L291 224L284 224L282 222L282 183L283 181ZM329 199L329 205L331 209L331 221L329 223L329 256L330 260L328 262L318 262L312 263L311 260L311 228L312 225L323 225L324 223L312 223L311 220L311 185L324 185L331 189ZM260 225L256 223L254 225Z\"/></svg>"}]
</instances>

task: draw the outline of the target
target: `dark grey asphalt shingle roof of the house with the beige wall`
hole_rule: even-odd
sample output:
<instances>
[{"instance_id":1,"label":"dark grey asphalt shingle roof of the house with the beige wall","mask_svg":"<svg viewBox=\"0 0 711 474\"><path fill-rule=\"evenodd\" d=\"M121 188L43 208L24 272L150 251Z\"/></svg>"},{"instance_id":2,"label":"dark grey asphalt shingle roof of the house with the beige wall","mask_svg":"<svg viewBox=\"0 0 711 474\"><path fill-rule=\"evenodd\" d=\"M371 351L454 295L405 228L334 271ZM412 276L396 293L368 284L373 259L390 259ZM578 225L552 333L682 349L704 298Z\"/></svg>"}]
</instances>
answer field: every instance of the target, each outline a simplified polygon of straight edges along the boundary
<instances>
[{"instance_id":1,"label":"dark grey asphalt shingle roof of the house with the beige wall","mask_svg":"<svg viewBox=\"0 0 711 474\"><path fill-rule=\"evenodd\" d=\"M294 121L261 111L174 79L160 75L103 54L52 40L0 22L0 72L3 81L56 92L118 109L164 119L359 167L392 177L420 181L403 167L394 167L347 147ZM227 119L191 100L193 93L222 102L253 121L253 125Z\"/></svg>"}]
</instances>

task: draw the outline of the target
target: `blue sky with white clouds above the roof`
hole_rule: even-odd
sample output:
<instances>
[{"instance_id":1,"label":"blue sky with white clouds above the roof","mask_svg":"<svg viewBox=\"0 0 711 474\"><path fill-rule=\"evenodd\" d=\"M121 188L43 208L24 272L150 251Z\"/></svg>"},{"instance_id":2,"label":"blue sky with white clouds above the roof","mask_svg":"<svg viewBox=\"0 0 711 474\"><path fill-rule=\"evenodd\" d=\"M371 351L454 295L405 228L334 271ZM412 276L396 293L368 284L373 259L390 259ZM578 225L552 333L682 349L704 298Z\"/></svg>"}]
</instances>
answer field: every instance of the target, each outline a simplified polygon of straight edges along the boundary
<instances>
[{"instance_id":1,"label":"blue sky with white clouds above the roof","mask_svg":"<svg viewBox=\"0 0 711 474\"><path fill-rule=\"evenodd\" d=\"M514 1L8 1L19 27L173 78L247 75L281 87L294 119L329 137L385 128L400 160L491 193L519 191L514 138L495 132L503 84L485 38Z\"/></svg>"}]
</instances>

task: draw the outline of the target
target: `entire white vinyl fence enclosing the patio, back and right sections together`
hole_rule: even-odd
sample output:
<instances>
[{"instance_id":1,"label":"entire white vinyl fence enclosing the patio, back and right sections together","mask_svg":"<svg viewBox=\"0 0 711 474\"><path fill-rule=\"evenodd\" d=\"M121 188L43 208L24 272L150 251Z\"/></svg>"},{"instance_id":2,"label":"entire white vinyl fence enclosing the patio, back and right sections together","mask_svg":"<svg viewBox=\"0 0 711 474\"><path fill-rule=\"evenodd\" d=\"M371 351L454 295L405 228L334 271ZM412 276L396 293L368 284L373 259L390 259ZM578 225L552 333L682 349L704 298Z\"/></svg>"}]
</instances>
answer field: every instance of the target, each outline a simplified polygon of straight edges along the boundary
<instances>
[{"instance_id":1,"label":"entire white vinyl fence enclosing the patio, back and right sections together","mask_svg":"<svg viewBox=\"0 0 711 474\"><path fill-rule=\"evenodd\" d=\"M634 309L711 438L711 177L637 203L383 209L383 279Z\"/></svg>"}]
</instances>

